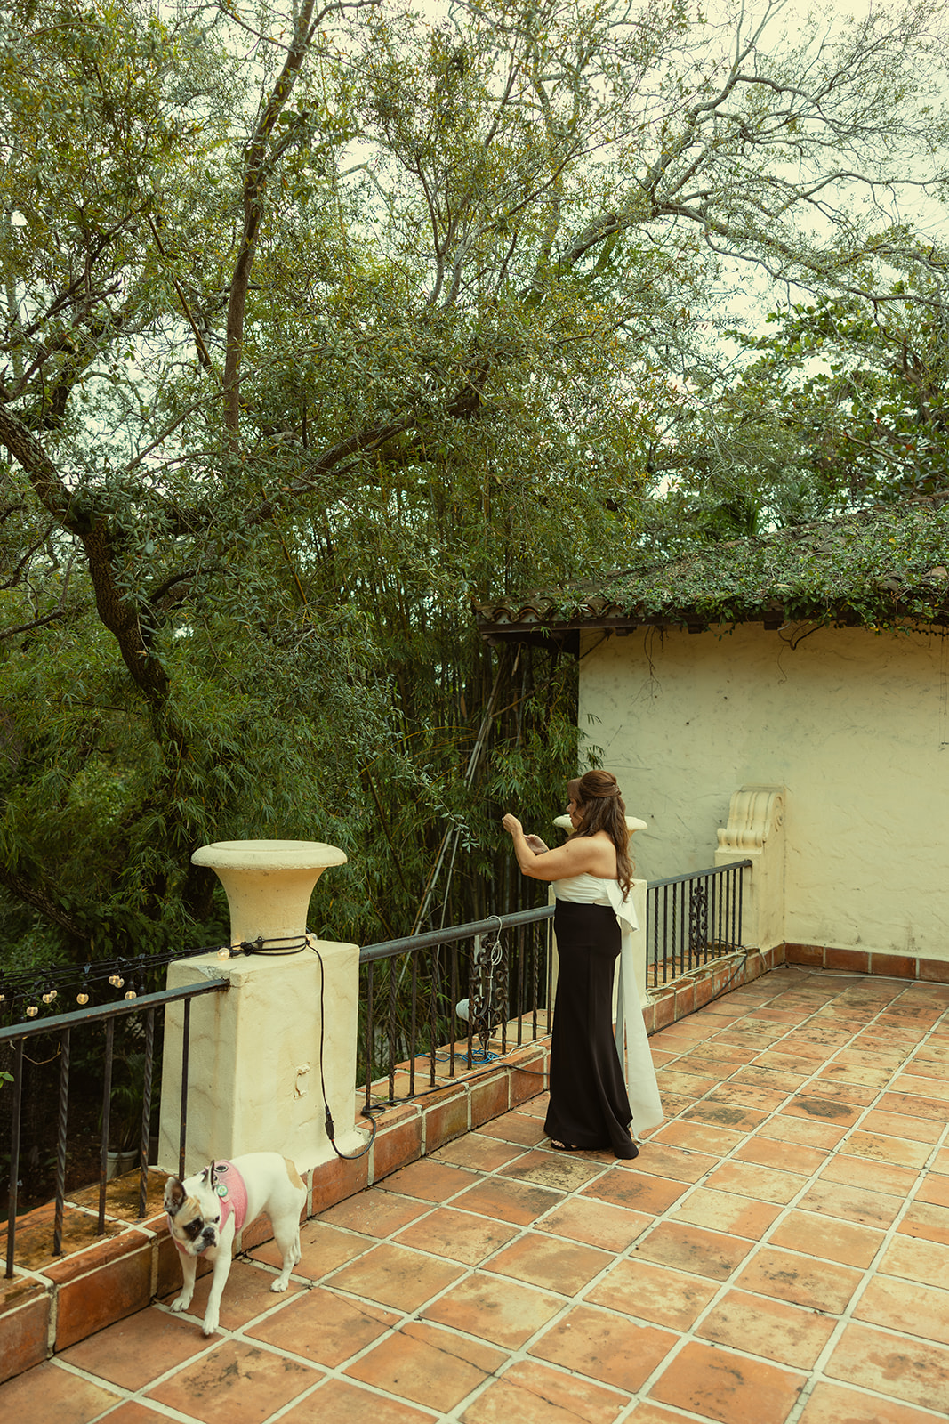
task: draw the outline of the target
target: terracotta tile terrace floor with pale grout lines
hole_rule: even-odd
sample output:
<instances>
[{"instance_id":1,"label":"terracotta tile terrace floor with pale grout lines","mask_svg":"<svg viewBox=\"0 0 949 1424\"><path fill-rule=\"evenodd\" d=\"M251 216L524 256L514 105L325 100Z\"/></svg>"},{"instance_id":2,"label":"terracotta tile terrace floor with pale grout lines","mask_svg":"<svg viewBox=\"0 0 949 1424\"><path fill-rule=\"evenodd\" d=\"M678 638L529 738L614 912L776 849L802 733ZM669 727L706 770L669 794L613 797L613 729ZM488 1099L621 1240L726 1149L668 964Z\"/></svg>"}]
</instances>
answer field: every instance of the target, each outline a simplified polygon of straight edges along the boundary
<instances>
[{"instance_id":1,"label":"terracotta tile terrace floor with pale grout lines","mask_svg":"<svg viewBox=\"0 0 949 1424\"><path fill-rule=\"evenodd\" d=\"M949 985L781 968L653 1040L636 1162L545 1098L0 1388L30 1424L923 1424L949 1413Z\"/></svg>"}]
</instances>

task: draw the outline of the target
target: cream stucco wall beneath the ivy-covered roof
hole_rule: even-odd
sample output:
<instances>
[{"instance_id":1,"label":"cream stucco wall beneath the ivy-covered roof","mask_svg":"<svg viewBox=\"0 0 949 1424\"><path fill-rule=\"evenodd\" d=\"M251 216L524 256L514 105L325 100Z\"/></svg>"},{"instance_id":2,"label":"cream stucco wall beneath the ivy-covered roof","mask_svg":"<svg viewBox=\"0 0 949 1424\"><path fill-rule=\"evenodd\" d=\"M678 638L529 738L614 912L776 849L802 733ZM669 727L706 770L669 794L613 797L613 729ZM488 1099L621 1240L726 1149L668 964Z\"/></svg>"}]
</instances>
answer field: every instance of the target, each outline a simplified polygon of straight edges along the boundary
<instances>
[{"instance_id":1,"label":"cream stucco wall beneath the ivy-covered roof","mask_svg":"<svg viewBox=\"0 0 949 1424\"><path fill-rule=\"evenodd\" d=\"M949 960L949 639L600 639L585 635L580 726L649 822L639 876L714 864L731 793L783 785L787 940Z\"/></svg>"}]
</instances>

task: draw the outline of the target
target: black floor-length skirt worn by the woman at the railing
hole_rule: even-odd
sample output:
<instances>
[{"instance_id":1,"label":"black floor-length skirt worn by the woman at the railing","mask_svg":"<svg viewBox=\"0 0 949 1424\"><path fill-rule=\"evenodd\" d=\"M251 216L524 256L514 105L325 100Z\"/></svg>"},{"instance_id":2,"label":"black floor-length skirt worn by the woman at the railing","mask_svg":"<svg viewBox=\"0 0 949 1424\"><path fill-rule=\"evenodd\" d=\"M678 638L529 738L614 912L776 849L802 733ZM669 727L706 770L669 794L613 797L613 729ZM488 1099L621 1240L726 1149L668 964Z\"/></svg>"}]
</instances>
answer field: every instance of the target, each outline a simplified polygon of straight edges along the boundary
<instances>
[{"instance_id":1,"label":"black floor-length skirt worn by the woman at the railing","mask_svg":"<svg viewBox=\"0 0 949 1424\"><path fill-rule=\"evenodd\" d=\"M632 1112L613 1038L619 920L610 906L558 900L553 928L559 971L544 1131L568 1146L633 1158Z\"/></svg>"}]
</instances>

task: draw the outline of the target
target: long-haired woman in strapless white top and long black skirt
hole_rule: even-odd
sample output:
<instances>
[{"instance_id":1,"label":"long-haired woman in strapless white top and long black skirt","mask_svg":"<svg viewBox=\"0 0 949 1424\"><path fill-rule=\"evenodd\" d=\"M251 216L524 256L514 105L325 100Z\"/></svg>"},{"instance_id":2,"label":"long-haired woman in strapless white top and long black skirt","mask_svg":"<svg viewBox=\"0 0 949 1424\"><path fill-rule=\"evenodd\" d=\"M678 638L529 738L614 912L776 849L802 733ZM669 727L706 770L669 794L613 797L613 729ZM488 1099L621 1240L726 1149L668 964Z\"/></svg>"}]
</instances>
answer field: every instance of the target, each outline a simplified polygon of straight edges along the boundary
<instances>
[{"instance_id":1,"label":"long-haired woman in strapless white top and long black skirt","mask_svg":"<svg viewBox=\"0 0 949 1424\"><path fill-rule=\"evenodd\" d=\"M502 822L524 874L552 881L556 896L559 974L544 1131L559 1152L606 1149L635 1158L639 1148L630 1122L642 1132L662 1122L663 1112L633 984L626 987L633 1010L626 1020L627 1084L613 1038L616 957L623 937L639 927L626 807L609 772L586 772L569 782L568 796L575 834L555 850L539 836L525 836L516 816Z\"/></svg>"}]
</instances>

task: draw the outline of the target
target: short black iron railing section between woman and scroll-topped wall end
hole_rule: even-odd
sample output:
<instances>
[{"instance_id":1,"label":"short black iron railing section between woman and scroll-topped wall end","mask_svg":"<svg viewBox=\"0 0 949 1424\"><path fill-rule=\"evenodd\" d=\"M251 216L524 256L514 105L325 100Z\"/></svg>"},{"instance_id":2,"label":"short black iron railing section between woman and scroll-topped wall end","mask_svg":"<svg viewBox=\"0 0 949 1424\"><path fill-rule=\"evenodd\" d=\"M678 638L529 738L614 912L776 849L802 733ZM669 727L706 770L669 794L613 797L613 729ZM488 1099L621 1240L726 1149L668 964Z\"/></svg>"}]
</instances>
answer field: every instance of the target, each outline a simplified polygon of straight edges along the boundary
<instances>
[{"instance_id":1,"label":"short black iron railing section between woman and scroll-topped wall end","mask_svg":"<svg viewBox=\"0 0 949 1424\"><path fill-rule=\"evenodd\" d=\"M743 873L750 860L650 880L646 988L741 948Z\"/></svg>"}]
</instances>

